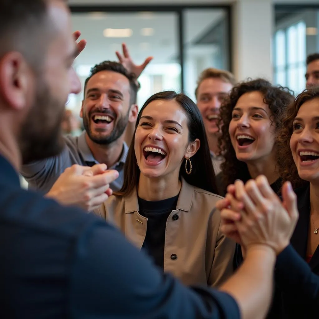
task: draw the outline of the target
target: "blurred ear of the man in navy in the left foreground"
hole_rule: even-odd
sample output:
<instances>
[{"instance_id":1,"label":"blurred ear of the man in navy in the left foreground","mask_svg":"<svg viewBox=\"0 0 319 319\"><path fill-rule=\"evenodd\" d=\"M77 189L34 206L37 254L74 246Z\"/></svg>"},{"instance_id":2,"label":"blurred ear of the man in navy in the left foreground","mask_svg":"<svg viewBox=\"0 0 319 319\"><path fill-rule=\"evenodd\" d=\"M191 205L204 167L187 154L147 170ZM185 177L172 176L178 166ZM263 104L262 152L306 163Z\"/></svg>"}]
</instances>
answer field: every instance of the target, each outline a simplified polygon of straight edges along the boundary
<instances>
[{"instance_id":1,"label":"blurred ear of the man in navy in the left foreground","mask_svg":"<svg viewBox=\"0 0 319 319\"><path fill-rule=\"evenodd\" d=\"M6 103L22 110L32 103L35 77L19 52L9 52L0 60L0 92Z\"/></svg>"}]
</instances>

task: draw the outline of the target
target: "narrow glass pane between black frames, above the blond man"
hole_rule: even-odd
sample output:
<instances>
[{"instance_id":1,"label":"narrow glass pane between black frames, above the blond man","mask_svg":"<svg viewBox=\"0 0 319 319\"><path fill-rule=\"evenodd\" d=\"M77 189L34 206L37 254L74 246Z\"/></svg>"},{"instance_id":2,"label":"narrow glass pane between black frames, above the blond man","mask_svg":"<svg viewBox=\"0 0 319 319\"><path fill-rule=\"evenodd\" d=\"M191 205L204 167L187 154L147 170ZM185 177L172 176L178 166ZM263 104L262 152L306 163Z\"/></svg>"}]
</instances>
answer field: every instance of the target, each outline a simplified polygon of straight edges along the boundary
<instances>
[{"instance_id":1,"label":"narrow glass pane between black frames, above the blond man","mask_svg":"<svg viewBox=\"0 0 319 319\"><path fill-rule=\"evenodd\" d=\"M193 100L198 75L206 68L229 68L228 21L224 9L185 9L184 91Z\"/></svg>"}]
</instances>

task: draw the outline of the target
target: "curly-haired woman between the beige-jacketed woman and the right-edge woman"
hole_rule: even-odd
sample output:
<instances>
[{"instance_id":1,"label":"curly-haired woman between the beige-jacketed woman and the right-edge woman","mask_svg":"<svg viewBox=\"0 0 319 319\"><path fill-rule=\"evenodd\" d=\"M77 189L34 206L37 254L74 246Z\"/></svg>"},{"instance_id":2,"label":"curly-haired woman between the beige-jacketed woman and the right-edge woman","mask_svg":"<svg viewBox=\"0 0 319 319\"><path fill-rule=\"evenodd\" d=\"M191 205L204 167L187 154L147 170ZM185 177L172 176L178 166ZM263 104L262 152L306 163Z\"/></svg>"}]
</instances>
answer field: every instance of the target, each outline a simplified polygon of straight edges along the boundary
<instances>
[{"instance_id":1,"label":"curly-haired woman between the beige-jacketed woman and the right-edge woman","mask_svg":"<svg viewBox=\"0 0 319 319\"><path fill-rule=\"evenodd\" d=\"M280 115L292 101L288 89L264 79L234 86L220 109L219 147L225 158L217 176L220 195L225 195L226 187L235 180L247 182L260 174L280 192L276 138Z\"/></svg>"}]
</instances>

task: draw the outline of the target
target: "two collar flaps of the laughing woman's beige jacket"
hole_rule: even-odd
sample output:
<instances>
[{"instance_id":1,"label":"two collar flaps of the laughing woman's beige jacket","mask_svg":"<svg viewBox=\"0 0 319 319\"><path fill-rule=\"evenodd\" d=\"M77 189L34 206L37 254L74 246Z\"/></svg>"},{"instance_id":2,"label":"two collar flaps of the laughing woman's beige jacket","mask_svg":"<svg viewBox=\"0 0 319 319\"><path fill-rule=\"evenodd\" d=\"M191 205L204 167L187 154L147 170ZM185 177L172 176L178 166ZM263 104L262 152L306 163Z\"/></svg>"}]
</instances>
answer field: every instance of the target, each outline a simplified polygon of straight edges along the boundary
<instances>
[{"instance_id":1,"label":"two collar flaps of the laughing woman's beige jacket","mask_svg":"<svg viewBox=\"0 0 319 319\"><path fill-rule=\"evenodd\" d=\"M182 178L182 187L178 197L176 209L182 211L190 211L190 207L193 202L194 186L187 183ZM124 210L125 214L139 211L137 200L137 188L135 188L130 195L124 198Z\"/></svg>"}]
</instances>

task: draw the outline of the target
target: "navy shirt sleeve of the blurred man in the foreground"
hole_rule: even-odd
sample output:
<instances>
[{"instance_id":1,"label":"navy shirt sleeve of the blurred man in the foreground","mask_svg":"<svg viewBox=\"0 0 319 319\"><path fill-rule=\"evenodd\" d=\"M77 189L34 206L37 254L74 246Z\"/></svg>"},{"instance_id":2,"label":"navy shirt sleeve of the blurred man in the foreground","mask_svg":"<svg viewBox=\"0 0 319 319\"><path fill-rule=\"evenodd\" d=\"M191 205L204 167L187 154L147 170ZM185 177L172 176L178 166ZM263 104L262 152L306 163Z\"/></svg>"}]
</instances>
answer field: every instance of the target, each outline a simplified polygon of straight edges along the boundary
<instances>
[{"instance_id":1,"label":"navy shirt sleeve of the blurred man in the foreground","mask_svg":"<svg viewBox=\"0 0 319 319\"><path fill-rule=\"evenodd\" d=\"M70 280L74 318L240 318L235 300L209 288L186 288L111 226L78 242Z\"/></svg>"}]
</instances>

